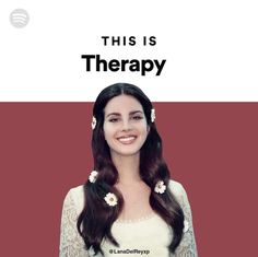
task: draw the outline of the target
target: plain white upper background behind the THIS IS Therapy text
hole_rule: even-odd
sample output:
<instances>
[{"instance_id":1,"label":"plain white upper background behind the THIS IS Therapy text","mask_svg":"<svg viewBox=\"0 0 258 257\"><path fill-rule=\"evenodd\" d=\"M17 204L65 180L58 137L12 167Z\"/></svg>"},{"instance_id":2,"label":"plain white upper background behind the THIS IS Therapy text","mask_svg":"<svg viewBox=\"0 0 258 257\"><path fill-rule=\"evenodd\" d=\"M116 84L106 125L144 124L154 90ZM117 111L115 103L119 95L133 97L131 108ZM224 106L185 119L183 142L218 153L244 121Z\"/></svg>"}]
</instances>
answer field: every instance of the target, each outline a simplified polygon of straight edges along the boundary
<instances>
[{"instance_id":1,"label":"plain white upper background behind the THIS IS Therapy text","mask_svg":"<svg viewBox=\"0 0 258 257\"><path fill-rule=\"evenodd\" d=\"M257 1L0 5L2 102L92 102L116 82L152 101L258 101Z\"/></svg>"}]
</instances>

